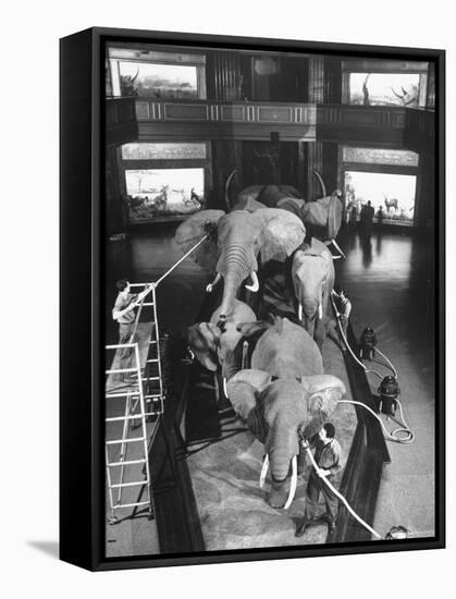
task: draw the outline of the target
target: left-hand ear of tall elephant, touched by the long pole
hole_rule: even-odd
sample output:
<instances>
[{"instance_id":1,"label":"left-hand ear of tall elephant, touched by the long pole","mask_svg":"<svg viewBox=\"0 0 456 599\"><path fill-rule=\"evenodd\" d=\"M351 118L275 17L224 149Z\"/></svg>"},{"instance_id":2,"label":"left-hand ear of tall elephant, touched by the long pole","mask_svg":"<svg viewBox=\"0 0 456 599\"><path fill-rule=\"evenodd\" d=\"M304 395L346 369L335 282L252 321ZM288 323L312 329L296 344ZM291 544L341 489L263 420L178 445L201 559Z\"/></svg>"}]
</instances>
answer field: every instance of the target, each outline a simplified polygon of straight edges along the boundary
<instances>
[{"instance_id":1,"label":"left-hand ear of tall elephant, touched by the long pole","mask_svg":"<svg viewBox=\"0 0 456 599\"><path fill-rule=\"evenodd\" d=\"M208 239L189 255L208 273L214 272L219 259L217 231L219 220L224 213L223 210L202 210L187 218L175 232L174 240L182 256L208 235Z\"/></svg>"}]
</instances>

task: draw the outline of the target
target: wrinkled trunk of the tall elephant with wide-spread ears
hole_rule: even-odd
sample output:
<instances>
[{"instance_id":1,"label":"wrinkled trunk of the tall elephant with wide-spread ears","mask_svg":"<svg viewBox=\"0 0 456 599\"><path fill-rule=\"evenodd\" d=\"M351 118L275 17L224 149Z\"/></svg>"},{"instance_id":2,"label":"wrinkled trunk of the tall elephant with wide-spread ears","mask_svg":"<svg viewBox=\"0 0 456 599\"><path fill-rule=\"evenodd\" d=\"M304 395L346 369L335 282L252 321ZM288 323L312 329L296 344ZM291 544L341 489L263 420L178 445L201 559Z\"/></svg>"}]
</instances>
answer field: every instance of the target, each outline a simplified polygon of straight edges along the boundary
<instances>
[{"instance_id":1,"label":"wrinkled trunk of the tall elephant with wide-spread ears","mask_svg":"<svg viewBox=\"0 0 456 599\"><path fill-rule=\"evenodd\" d=\"M251 267L249 268L248 254L244 245L231 244L220 257L217 269L224 277L223 297L220 306L220 319L224 320L233 313L234 301L241 284L252 270Z\"/></svg>"}]
</instances>

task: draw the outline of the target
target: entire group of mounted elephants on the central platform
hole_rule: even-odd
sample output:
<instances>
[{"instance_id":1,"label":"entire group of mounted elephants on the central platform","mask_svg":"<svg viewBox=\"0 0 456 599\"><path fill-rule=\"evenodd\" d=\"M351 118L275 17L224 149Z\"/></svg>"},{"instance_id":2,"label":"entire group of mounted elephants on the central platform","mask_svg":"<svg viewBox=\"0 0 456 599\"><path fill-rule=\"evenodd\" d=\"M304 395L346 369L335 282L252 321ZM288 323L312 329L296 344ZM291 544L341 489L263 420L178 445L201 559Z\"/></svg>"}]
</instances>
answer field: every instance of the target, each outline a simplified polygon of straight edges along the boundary
<instances>
[{"instance_id":1,"label":"entire group of mounted elephants on the central platform","mask_svg":"<svg viewBox=\"0 0 456 599\"><path fill-rule=\"evenodd\" d=\"M208 292L223 279L220 306L209 322L189 327L188 343L205 368L221 371L233 408L264 444L263 473L269 462L273 508L288 506L293 500L298 431L308 439L316 435L345 393L340 379L324 375L321 356L333 319L334 266L326 244L341 227L340 192L311 203L298 196L289 186L250 186L229 213L204 210L185 220L175 234L183 254L207 235L190 256L215 274ZM288 264L287 258L300 325L273 315L271 321L258 321L238 298L242 285L258 292L262 265ZM249 364L243 351L246 342L255 346Z\"/></svg>"}]
</instances>

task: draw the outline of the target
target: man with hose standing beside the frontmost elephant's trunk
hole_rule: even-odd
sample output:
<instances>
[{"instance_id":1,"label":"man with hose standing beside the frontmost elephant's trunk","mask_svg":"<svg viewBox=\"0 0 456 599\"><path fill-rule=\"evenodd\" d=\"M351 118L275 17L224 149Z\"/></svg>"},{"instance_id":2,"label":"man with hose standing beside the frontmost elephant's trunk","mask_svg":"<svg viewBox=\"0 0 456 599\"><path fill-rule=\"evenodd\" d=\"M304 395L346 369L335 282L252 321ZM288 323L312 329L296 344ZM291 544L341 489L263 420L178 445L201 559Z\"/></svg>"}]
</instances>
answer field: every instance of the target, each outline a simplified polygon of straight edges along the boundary
<instances>
[{"instance_id":1,"label":"man with hose standing beside the frontmost elephant's trunk","mask_svg":"<svg viewBox=\"0 0 456 599\"><path fill-rule=\"evenodd\" d=\"M343 466L341 445L334 436L334 425L326 423L310 442L310 449L315 448L313 459L318 467L317 469L312 467L309 476L304 518L298 523L296 537L301 537L312 521L326 522L330 535L335 530L338 499L323 480L323 478L332 480ZM301 445L306 449L307 441L303 440ZM326 512L316 518L320 493L323 496Z\"/></svg>"}]
</instances>

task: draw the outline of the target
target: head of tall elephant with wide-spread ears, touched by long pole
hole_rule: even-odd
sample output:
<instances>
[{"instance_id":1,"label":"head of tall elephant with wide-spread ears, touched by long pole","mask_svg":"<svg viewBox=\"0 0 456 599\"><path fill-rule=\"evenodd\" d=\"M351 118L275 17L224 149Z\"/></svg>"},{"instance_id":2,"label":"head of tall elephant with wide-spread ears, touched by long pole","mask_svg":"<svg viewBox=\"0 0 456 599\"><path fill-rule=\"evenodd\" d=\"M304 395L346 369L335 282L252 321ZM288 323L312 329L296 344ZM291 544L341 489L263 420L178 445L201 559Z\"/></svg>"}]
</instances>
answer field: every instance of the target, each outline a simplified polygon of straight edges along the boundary
<instances>
[{"instance_id":1,"label":"head of tall elephant with wide-spread ears, touched by long pole","mask_svg":"<svg viewBox=\"0 0 456 599\"><path fill-rule=\"evenodd\" d=\"M234 301L245 279L251 279L247 290L259 290L258 255L263 262L284 261L301 245L306 228L295 215L280 208L234 210L227 215L223 210L202 210L178 225L175 242L185 254L205 235L206 241L190 256L208 272L217 272L208 291L224 279L222 322L233 315Z\"/></svg>"}]
</instances>

